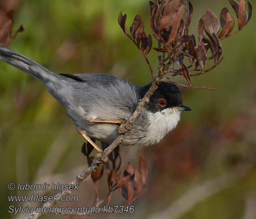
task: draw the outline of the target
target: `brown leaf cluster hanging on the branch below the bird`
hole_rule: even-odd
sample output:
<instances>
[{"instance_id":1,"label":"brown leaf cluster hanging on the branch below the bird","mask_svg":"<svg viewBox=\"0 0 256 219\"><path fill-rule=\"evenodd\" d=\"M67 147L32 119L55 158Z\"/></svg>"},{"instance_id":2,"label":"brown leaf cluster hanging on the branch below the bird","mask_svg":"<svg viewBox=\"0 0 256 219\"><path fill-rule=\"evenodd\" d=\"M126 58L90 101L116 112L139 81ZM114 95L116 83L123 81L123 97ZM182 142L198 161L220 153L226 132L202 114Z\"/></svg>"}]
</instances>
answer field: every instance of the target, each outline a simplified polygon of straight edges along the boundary
<instances>
[{"instance_id":1,"label":"brown leaf cluster hanging on the branch below the bird","mask_svg":"<svg viewBox=\"0 0 256 219\"><path fill-rule=\"evenodd\" d=\"M108 147L108 144L102 142L102 149L104 150L106 147ZM94 160L93 157L90 157L92 151L93 146L90 143L87 142L83 144L82 153L86 155L89 166ZM110 153L108 162L91 174L97 206L103 204L105 201L109 204L112 193L116 190L120 191L120 194L127 200L127 205L129 205L132 201L135 201L138 198L140 192L145 187L148 176L148 164L143 156L140 156L139 158L139 169L133 168L133 166L128 163L126 169L122 172L120 166L121 157L119 154L119 147L117 146L114 151ZM99 200L97 181L100 180L104 172L107 173L109 193L104 199Z\"/></svg>"}]
</instances>

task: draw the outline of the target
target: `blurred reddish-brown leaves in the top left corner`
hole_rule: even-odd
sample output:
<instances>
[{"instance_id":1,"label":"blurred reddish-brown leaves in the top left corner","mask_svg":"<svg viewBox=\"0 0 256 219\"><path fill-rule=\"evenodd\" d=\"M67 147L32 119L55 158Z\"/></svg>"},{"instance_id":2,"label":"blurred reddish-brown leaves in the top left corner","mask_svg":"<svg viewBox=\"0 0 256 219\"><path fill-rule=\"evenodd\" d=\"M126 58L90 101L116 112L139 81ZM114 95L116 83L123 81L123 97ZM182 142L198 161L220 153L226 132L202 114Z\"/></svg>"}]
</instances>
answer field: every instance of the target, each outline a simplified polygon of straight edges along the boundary
<instances>
[{"instance_id":1,"label":"blurred reddish-brown leaves in the top left corner","mask_svg":"<svg viewBox=\"0 0 256 219\"><path fill-rule=\"evenodd\" d=\"M0 2L0 44L4 46L9 46L12 39L16 37L19 32L22 32L24 28L19 27L18 30L12 34L12 26L14 23L13 14L15 7L19 1L7 1L3 0Z\"/></svg>"}]
</instances>

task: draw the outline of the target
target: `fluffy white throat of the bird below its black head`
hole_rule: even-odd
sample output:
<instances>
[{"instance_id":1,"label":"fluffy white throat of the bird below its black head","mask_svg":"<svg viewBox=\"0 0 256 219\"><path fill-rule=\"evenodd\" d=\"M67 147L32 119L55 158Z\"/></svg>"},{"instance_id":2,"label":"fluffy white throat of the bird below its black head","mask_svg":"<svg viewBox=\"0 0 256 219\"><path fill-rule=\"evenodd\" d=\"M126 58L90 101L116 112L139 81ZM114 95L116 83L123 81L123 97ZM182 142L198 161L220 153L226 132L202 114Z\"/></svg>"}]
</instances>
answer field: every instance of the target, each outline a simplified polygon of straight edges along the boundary
<instances>
[{"instance_id":1,"label":"fluffy white throat of the bird below its black head","mask_svg":"<svg viewBox=\"0 0 256 219\"><path fill-rule=\"evenodd\" d=\"M180 121L181 111L174 108L167 108L162 111L148 113L149 127L148 144L155 144L162 140L165 135L172 131Z\"/></svg>"}]
</instances>

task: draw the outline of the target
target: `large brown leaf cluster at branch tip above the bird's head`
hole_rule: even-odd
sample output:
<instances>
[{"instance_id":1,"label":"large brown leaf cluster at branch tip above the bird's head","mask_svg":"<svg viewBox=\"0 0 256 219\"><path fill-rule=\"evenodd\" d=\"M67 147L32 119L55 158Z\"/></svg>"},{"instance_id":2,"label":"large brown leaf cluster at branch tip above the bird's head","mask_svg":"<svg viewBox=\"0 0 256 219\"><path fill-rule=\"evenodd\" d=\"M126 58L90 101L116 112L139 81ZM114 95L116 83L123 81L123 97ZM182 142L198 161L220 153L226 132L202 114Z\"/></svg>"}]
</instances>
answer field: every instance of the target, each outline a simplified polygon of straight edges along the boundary
<instances>
[{"instance_id":1,"label":"large brown leaf cluster at branch tip above the bird's head","mask_svg":"<svg viewBox=\"0 0 256 219\"><path fill-rule=\"evenodd\" d=\"M236 0L229 0L232 8L235 10L238 18L238 31L231 34L234 28L234 18L228 8L223 8L218 17L209 9L202 16L198 24L198 43L195 36L189 34L189 25L191 24L193 6L186 0L156 0L156 3L150 1L151 20L150 27L154 38L158 41L159 72L163 74L173 73L161 81L177 84L189 88L205 88L192 86L191 77L200 76L214 69L223 59L221 40L230 37L241 31L251 20L253 14L252 3L248 1L248 14L245 9L245 0L238 3ZM143 55L147 55L152 46L152 39L147 37L144 31L144 24L140 14L136 15L130 28L131 37L125 27L126 15L120 13L118 23L125 34L132 39L136 46L141 50L146 50ZM220 28L222 30L220 31ZM143 42L142 42L143 41ZM142 43L141 43L142 42ZM140 46L141 43L141 46ZM208 52L211 51L211 55ZM184 64L184 57L188 58L190 65ZM206 68L207 61L213 59L214 66ZM146 59L151 73L152 68ZM200 67L200 69L198 69ZM198 71L199 73L192 73ZM170 78L181 75L188 85L170 81ZM153 75L154 80L154 75Z\"/></svg>"}]
</instances>

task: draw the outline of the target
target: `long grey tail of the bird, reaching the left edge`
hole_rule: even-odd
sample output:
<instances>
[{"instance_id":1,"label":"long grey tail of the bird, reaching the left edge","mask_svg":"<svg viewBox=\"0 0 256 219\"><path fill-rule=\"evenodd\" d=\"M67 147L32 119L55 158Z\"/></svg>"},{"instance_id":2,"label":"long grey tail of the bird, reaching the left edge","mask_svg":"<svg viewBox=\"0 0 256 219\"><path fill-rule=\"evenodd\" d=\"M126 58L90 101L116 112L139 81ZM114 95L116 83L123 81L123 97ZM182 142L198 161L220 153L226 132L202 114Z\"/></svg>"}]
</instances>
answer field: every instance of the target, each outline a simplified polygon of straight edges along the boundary
<instances>
[{"instance_id":1,"label":"long grey tail of the bird, reaching the left edge","mask_svg":"<svg viewBox=\"0 0 256 219\"><path fill-rule=\"evenodd\" d=\"M44 84L49 81L57 82L58 78L61 77L59 74L51 72L24 55L21 55L4 46L0 46L0 60L22 70L23 72L42 81Z\"/></svg>"}]
</instances>

